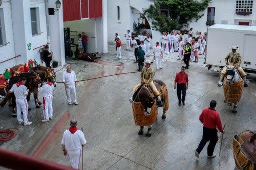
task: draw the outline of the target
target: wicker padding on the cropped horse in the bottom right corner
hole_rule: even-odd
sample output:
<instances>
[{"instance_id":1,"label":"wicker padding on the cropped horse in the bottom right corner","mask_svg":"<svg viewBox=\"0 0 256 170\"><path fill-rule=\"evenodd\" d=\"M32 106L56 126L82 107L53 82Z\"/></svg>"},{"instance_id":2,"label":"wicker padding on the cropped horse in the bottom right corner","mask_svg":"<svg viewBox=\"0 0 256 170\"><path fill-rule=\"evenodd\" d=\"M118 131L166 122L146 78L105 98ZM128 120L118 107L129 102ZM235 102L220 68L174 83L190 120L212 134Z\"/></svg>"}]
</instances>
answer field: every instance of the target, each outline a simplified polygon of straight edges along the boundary
<instances>
[{"instance_id":1,"label":"wicker padding on the cropped horse in the bottom right corner","mask_svg":"<svg viewBox=\"0 0 256 170\"><path fill-rule=\"evenodd\" d=\"M239 170L254 170L254 164L241 152L241 144L233 137L233 156L235 167ZM255 167L256 168L256 167Z\"/></svg>"}]
</instances>

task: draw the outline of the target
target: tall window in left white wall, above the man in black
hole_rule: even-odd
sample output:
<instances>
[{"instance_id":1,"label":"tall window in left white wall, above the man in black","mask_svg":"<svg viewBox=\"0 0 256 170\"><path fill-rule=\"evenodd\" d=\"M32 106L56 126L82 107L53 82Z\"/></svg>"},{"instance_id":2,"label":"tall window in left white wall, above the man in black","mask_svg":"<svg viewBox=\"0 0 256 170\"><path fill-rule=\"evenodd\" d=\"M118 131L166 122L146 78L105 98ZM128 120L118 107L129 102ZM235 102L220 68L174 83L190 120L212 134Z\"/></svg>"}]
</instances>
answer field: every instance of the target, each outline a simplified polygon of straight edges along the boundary
<instances>
[{"instance_id":1,"label":"tall window in left white wall, above the man in black","mask_svg":"<svg viewBox=\"0 0 256 170\"><path fill-rule=\"evenodd\" d=\"M38 13L37 7L30 8L30 18L31 18L32 35L36 35L40 32L39 13Z\"/></svg>"}]
</instances>

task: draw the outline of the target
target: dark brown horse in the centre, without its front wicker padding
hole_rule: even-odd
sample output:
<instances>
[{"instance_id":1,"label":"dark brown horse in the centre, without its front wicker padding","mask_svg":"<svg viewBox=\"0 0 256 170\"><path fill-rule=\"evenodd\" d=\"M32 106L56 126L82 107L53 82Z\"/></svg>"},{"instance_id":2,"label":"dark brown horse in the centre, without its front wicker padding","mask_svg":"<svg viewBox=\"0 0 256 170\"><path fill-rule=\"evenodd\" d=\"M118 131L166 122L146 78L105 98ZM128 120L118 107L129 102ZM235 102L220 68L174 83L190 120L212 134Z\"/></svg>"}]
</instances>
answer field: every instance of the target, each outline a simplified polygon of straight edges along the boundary
<instances>
[{"instance_id":1,"label":"dark brown horse in the centre, without its front wicker padding","mask_svg":"<svg viewBox=\"0 0 256 170\"><path fill-rule=\"evenodd\" d=\"M167 90L165 90L166 85L161 81L161 80L154 80L154 85L156 87L156 89L159 91L160 96L161 96L161 100L162 100L162 106L163 106L163 113L161 118L165 119L166 115L165 115L165 111L168 109L168 102L165 101L165 99L168 98L168 94L165 94L167 92ZM153 92L152 89L147 86L140 86L140 88L138 88L133 96L132 96L132 101L134 102L140 102L140 104L142 105L143 111L145 115L149 115L152 109L152 106L154 104L154 99L156 97L153 97ZM158 106L156 106L156 111L157 111ZM151 127L152 125L148 126L147 129L147 133L146 136L150 137L151 136ZM140 126L140 129L138 131L138 135L142 135L143 134L143 126Z\"/></svg>"}]
</instances>

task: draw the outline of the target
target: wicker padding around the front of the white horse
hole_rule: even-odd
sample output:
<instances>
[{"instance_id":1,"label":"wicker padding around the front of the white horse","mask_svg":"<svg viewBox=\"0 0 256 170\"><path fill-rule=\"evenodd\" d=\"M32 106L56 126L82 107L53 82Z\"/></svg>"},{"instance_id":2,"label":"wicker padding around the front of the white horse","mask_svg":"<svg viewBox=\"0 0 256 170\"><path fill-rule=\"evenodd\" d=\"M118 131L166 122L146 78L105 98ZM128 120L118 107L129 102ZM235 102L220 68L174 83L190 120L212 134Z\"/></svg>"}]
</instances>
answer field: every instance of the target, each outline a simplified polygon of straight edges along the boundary
<instances>
[{"instance_id":1,"label":"wicker padding around the front of the white horse","mask_svg":"<svg viewBox=\"0 0 256 170\"><path fill-rule=\"evenodd\" d=\"M224 78L223 91L225 101L227 103L237 103L242 96L243 80L240 78L236 83L232 83L229 86L226 84L226 78Z\"/></svg>"}]
</instances>

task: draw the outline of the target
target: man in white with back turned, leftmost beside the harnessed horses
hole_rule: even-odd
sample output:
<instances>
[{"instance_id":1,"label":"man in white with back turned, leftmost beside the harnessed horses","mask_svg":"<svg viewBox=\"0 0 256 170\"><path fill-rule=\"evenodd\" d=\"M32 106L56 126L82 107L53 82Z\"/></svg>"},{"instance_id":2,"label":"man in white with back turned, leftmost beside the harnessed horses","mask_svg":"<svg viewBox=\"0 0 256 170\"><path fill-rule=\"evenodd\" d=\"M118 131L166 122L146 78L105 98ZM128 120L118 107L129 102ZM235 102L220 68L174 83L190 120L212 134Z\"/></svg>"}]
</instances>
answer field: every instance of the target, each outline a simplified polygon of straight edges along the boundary
<instances>
[{"instance_id":1,"label":"man in white with back turned, leftmost beside the harnessed horses","mask_svg":"<svg viewBox=\"0 0 256 170\"><path fill-rule=\"evenodd\" d=\"M17 108L17 120L18 124L20 125L22 122L24 122L24 126L31 125L32 122L28 121L28 106L27 106L27 100L26 96L28 95L28 89L26 89L26 86L24 85L26 82L25 77L20 78L20 82L15 83L12 85L11 89L9 90L9 93L14 93L15 95L15 102L16 102L16 108ZM23 113L23 120L21 119L21 111Z\"/></svg>"}]
</instances>

